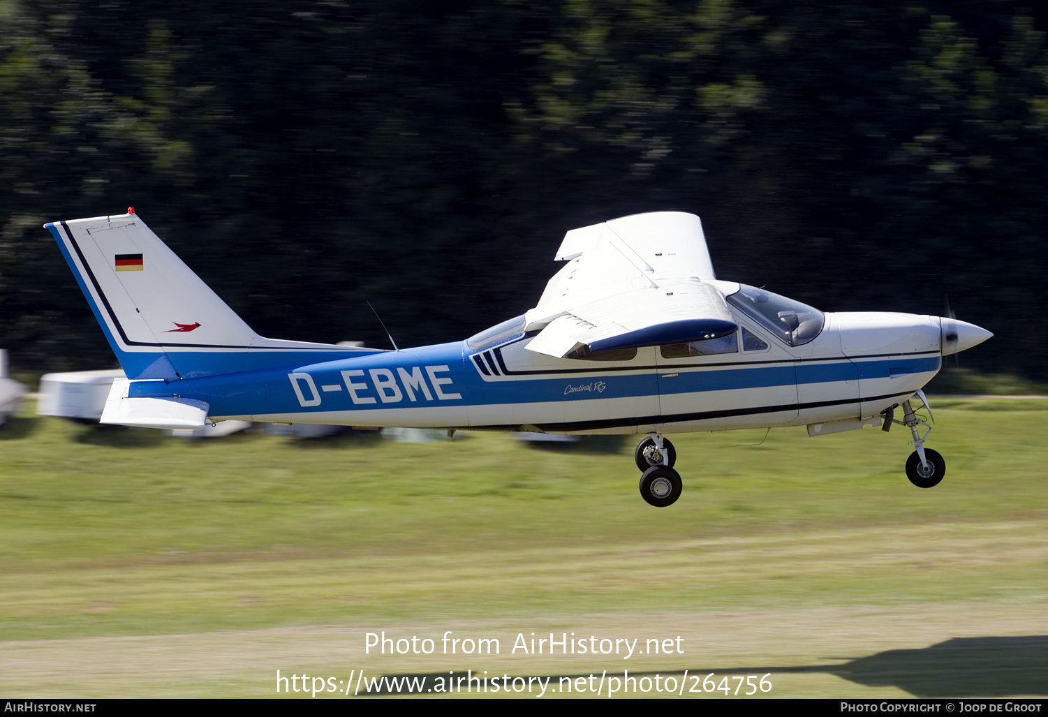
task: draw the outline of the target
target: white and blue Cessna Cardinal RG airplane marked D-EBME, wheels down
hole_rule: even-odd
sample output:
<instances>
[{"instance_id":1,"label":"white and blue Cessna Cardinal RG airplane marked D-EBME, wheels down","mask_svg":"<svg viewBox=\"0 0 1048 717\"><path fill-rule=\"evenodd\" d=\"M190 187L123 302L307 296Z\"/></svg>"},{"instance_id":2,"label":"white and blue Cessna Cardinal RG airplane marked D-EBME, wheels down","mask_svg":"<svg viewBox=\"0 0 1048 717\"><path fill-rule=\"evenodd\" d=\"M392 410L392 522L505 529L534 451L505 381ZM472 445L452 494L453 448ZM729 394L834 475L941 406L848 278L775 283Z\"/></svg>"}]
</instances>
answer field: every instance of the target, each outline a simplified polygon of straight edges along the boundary
<instances>
[{"instance_id":1,"label":"white and blue Cessna Cardinal RG airplane marked D-EBME, wheels down","mask_svg":"<svg viewBox=\"0 0 1048 717\"><path fill-rule=\"evenodd\" d=\"M992 335L953 318L824 313L718 280L699 218L679 212L568 232L567 263L524 316L393 351L258 335L133 209L45 226L127 374L103 423L640 434L640 494L657 506L681 493L664 437L680 432L898 423L916 449L908 477L936 485L945 463L911 398L926 407L942 356Z\"/></svg>"}]
</instances>

